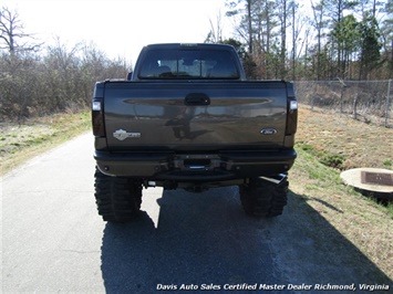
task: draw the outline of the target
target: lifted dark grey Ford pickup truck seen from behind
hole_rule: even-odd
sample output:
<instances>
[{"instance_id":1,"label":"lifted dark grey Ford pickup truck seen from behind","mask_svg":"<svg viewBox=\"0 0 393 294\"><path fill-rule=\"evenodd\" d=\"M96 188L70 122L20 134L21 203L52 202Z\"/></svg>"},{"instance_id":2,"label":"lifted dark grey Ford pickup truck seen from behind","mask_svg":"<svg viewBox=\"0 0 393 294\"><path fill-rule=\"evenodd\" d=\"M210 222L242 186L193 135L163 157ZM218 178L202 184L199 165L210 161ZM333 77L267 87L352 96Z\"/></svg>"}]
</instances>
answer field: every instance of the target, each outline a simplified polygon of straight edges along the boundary
<instances>
[{"instance_id":1,"label":"lifted dark grey Ford pickup truck seen from behind","mask_svg":"<svg viewBox=\"0 0 393 294\"><path fill-rule=\"evenodd\" d=\"M246 81L221 44L145 46L131 81L95 85L95 198L105 221L127 222L143 187L238 186L246 213L287 204L298 104L293 84Z\"/></svg>"}]
</instances>

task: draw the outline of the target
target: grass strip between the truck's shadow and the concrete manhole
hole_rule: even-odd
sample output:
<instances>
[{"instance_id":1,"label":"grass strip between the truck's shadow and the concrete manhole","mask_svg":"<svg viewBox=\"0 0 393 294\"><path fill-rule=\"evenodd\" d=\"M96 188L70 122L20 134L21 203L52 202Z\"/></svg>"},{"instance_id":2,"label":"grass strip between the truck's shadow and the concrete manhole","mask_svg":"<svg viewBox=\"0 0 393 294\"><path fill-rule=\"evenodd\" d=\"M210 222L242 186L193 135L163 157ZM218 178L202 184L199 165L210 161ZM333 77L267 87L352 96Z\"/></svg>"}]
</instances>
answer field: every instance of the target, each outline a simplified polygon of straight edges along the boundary
<instances>
[{"instance_id":1,"label":"grass strip between the truck's shadow and the concrete manhole","mask_svg":"<svg viewBox=\"0 0 393 294\"><path fill-rule=\"evenodd\" d=\"M372 198L360 195L341 183L339 170L324 166L301 148L298 148L298 153L296 165L289 174L291 191L300 195L300 202L318 211L393 279L393 206L381 206ZM318 227L322 235L325 229Z\"/></svg>"}]
</instances>

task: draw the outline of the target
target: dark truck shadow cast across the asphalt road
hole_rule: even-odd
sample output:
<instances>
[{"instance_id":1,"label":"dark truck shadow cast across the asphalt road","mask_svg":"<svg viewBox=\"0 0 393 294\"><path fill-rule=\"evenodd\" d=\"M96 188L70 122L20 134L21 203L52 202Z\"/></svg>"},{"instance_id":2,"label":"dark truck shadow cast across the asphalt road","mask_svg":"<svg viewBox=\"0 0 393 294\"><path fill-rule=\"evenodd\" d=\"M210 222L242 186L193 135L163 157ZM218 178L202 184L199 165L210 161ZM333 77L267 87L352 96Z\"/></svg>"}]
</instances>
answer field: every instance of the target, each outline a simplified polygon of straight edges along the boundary
<instances>
[{"instance_id":1,"label":"dark truck shadow cast across the asphalt road","mask_svg":"<svg viewBox=\"0 0 393 294\"><path fill-rule=\"evenodd\" d=\"M154 293L159 285L179 290L182 284L223 290L244 283L390 282L311 207L302 214L301 196L290 195L283 216L256 220L244 214L237 192L235 187L199 195L164 191L157 229L146 212L130 224L107 223L102 245L106 292Z\"/></svg>"}]
</instances>

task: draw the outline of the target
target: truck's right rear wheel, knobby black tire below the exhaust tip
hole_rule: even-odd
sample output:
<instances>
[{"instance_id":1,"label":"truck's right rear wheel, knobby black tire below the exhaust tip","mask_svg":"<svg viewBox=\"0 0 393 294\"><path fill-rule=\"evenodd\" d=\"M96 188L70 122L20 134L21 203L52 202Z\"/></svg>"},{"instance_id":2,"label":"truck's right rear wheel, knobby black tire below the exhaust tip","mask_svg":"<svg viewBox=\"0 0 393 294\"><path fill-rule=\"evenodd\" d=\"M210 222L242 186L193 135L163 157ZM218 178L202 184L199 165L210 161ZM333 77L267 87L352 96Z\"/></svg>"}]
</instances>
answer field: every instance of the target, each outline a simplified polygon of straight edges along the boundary
<instances>
[{"instance_id":1,"label":"truck's right rear wheel, knobby black tire below the exhaust tip","mask_svg":"<svg viewBox=\"0 0 393 294\"><path fill-rule=\"evenodd\" d=\"M241 185L240 200L247 214L257 218L271 218L282 213L287 204L288 180L276 185L259 178Z\"/></svg>"}]
</instances>

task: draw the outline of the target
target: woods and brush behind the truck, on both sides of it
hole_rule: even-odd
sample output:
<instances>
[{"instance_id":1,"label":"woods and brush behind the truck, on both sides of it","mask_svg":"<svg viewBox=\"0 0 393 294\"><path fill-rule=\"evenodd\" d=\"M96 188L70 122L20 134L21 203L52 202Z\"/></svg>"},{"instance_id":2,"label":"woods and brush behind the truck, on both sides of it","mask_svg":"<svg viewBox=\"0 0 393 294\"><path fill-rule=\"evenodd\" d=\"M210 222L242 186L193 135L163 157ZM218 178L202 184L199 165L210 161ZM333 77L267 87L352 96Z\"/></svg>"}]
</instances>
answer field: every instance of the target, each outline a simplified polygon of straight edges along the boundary
<instances>
[{"instance_id":1,"label":"woods and brush behind the truck, on both sides of it","mask_svg":"<svg viewBox=\"0 0 393 294\"><path fill-rule=\"evenodd\" d=\"M205 42L232 44L250 80L393 78L393 0L227 0L224 10ZM223 18L234 22L231 38L223 38ZM0 123L85 108L96 81L130 70L89 41L37 43L8 8L0 10Z\"/></svg>"}]
</instances>

